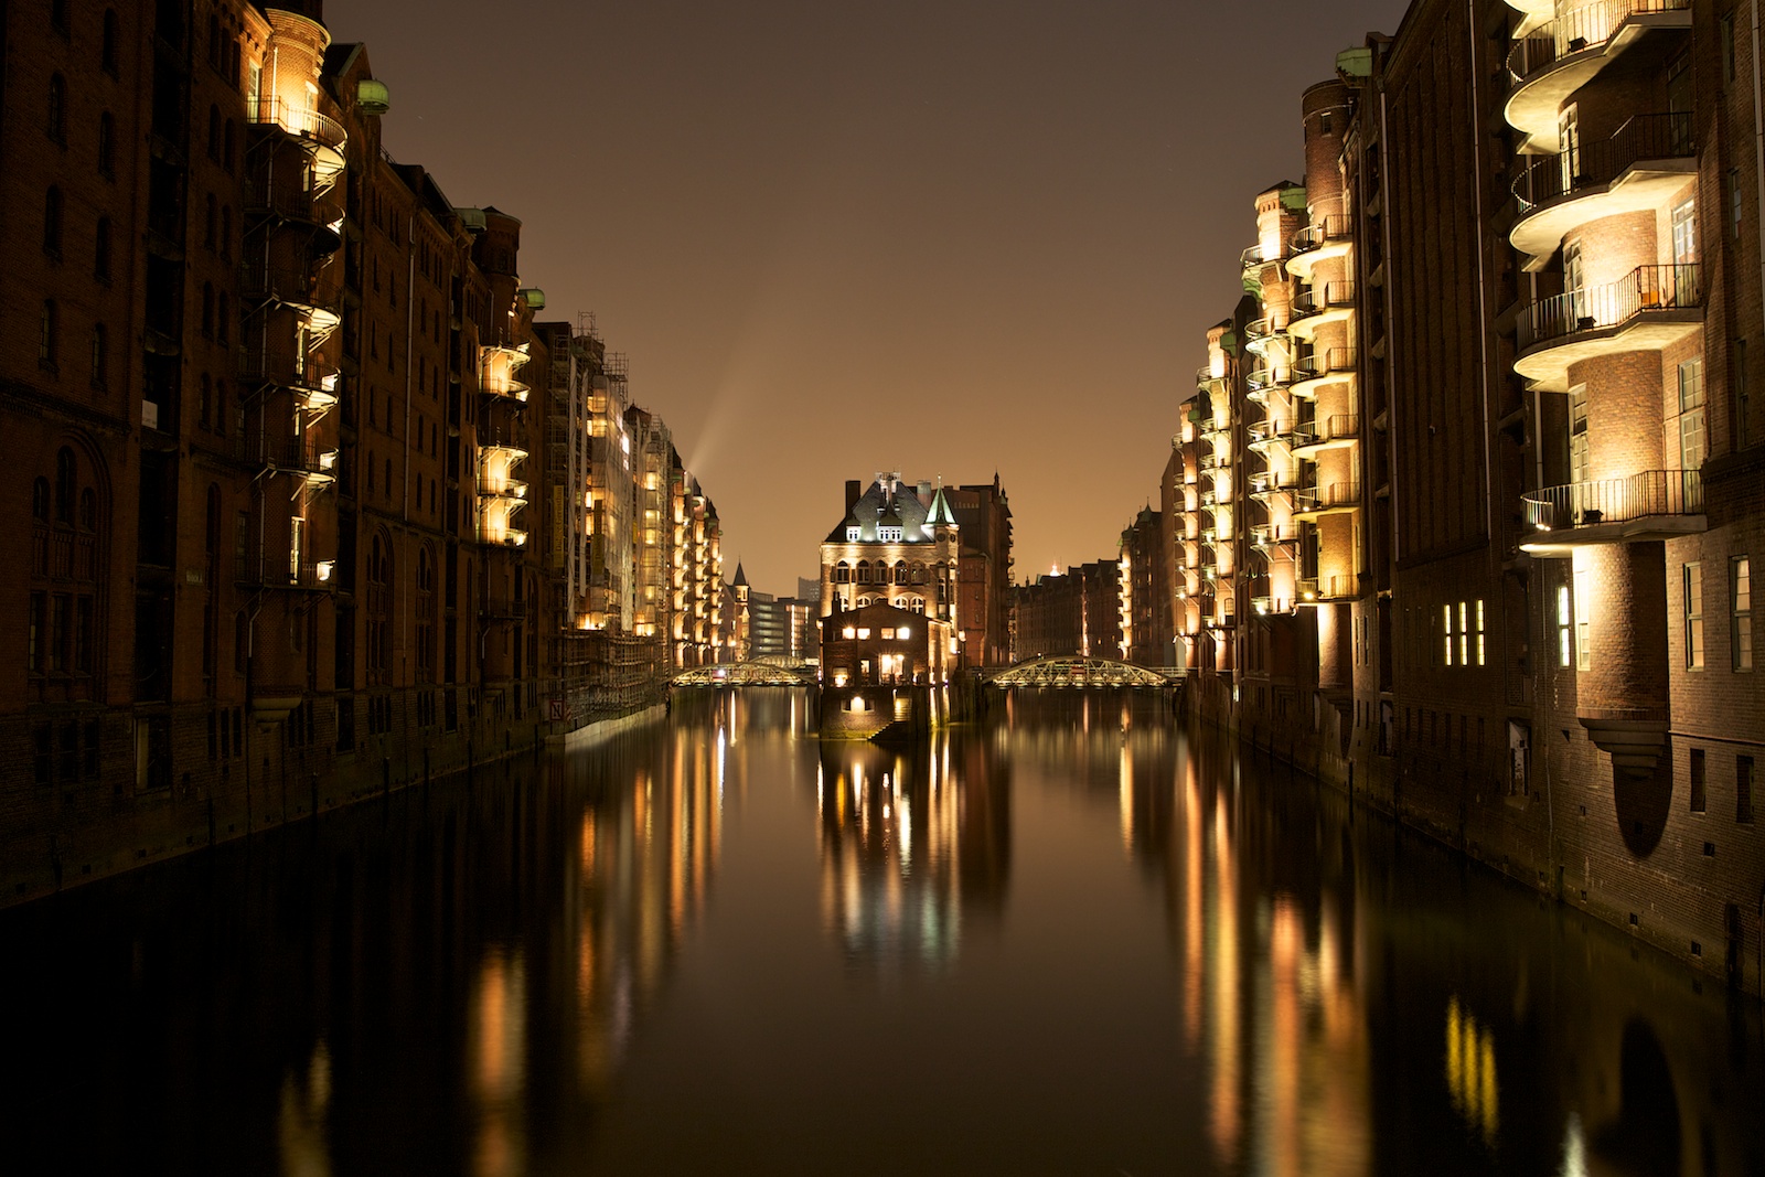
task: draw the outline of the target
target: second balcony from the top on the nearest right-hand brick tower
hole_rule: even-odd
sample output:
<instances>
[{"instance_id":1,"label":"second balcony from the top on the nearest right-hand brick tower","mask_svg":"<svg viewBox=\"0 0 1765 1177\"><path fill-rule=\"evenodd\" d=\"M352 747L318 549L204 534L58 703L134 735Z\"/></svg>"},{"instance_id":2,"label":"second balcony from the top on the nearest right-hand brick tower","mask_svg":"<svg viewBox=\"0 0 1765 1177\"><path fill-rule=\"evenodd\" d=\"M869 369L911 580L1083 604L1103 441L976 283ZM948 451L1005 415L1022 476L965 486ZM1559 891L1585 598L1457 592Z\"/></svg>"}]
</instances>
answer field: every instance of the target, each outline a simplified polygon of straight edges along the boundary
<instances>
[{"instance_id":1,"label":"second balcony from the top on the nearest right-hand brick tower","mask_svg":"<svg viewBox=\"0 0 1765 1177\"><path fill-rule=\"evenodd\" d=\"M1541 270L1576 226L1626 212L1659 212L1698 171L1691 115L1636 115L1610 138L1550 155L1514 178L1520 219L1509 229L1527 268Z\"/></svg>"}]
</instances>

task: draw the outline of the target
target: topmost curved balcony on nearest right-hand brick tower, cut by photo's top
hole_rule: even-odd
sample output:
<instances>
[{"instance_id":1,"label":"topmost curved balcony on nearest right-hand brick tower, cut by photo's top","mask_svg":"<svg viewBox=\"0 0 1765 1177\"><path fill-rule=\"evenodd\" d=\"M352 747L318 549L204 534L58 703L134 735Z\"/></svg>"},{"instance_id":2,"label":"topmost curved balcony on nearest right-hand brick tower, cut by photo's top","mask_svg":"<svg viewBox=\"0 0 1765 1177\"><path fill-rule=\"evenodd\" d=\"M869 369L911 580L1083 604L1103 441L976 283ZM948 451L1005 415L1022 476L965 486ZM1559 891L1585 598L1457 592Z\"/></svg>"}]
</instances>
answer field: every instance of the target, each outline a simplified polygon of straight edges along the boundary
<instances>
[{"instance_id":1,"label":"topmost curved balcony on nearest right-hand brick tower, cut by photo's top","mask_svg":"<svg viewBox=\"0 0 1765 1177\"><path fill-rule=\"evenodd\" d=\"M1507 124L1527 136L1527 146L1560 152L1557 113L1569 95L1647 37L1689 28L1691 0L1596 0L1539 25L1507 55L1516 83Z\"/></svg>"}]
</instances>

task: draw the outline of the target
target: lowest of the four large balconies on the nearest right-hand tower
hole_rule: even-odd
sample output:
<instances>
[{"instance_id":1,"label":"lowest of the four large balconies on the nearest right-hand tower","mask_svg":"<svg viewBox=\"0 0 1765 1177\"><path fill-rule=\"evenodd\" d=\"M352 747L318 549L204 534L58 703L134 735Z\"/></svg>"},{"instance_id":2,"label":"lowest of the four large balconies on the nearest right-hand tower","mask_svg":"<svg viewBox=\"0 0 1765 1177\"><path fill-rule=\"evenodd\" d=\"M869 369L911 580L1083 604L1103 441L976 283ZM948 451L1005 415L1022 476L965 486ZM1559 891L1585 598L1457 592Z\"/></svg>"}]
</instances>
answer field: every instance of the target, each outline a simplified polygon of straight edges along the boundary
<instances>
[{"instance_id":1,"label":"lowest of the four large balconies on the nearest right-hand tower","mask_svg":"<svg viewBox=\"0 0 1765 1177\"><path fill-rule=\"evenodd\" d=\"M1573 482L1530 491L1523 501L1534 538L1520 547L1539 556L1705 529L1703 480L1696 469L1645 469L1626 478Z\"/></svg>"}]
</instances>

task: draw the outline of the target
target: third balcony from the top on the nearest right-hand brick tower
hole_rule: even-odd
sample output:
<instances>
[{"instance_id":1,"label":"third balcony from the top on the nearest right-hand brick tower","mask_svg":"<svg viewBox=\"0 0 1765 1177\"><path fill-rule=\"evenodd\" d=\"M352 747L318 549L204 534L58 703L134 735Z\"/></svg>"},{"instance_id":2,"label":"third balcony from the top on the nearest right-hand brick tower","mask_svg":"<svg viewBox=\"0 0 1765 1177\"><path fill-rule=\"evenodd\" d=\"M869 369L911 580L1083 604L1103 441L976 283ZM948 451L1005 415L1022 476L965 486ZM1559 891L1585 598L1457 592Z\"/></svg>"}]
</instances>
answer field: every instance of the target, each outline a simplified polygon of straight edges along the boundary
<instances>
[{"instance_id":1,"label":"third balcony from the top on the nearest right-hand brick tower","mask_svg":"<svg viewBox=\"0 0 1765 1177\"><path fill-rule=\"evenodd\" d=\"M1569 390L1569 365L1622 351L1659 351L1703 326L1696 263L1636 266L1610 286L1588 286L1525 307L1514 371L1546 392Z\"/></svg>"}]
</instances>

